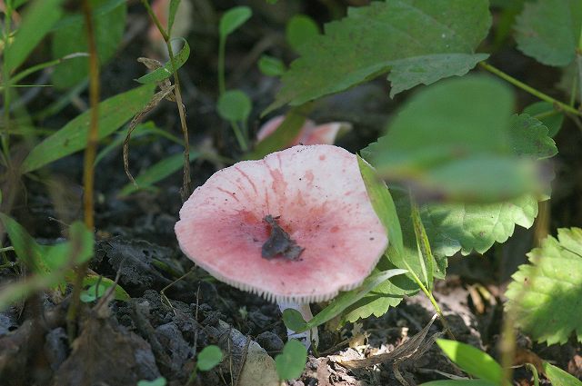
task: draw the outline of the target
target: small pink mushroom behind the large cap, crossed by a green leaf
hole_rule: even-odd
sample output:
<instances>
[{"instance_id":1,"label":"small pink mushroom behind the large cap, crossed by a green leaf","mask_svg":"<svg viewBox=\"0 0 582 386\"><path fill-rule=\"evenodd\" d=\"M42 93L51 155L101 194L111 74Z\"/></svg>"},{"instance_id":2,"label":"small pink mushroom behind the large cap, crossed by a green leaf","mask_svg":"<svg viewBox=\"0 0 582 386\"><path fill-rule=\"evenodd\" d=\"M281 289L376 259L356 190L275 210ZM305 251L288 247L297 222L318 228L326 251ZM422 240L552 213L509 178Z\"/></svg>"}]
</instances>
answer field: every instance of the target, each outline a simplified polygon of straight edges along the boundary
<instances>
[{"instance_id":1,"label":"small pink mushroom behind the large cap, crossed by a green leaf","mask_svg":"<svg viewBox=\"0 0 582 386\"><path fill-rule=\"evenodd\" d=\"M257 141L263 141L267 136L275 133L277 127L279 127L283 121L285 121L285 116L278 115L274 118L268 120L265 124L261 126L256 134ZM317 125L310 119L306 120L303 124L299 135L293 140L289 146L294 146L296 144L334 144L336 141L337 134L342 131L351 130L352 124L346 122L330 122L328 124Z\"/></svg>"}]
</instances>

